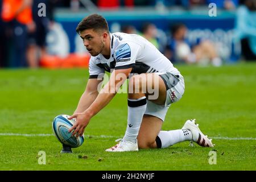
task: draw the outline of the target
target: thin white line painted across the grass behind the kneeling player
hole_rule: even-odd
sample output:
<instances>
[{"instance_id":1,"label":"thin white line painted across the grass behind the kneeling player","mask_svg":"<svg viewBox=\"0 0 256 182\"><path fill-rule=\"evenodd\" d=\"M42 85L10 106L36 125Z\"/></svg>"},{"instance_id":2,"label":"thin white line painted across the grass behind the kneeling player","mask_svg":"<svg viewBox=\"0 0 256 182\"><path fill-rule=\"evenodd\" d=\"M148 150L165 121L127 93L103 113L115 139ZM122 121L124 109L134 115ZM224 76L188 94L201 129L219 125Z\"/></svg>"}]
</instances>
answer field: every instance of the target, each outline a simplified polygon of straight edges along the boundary
<instances>
[{"instance_id":1,"label":"thin white line painted across the grass behind the kneeling player","mask_svg":"<svg viewBox=\"0 0 256 182\"><path fill-rule=\"evenodd\" d=\"M22 137L49 137L54 136L54 134L21 134L21 133L0 133L0 136L22 136ZM111 136L111 135L85 135L86 138L122 138L121 136ZM220 140L256 140L252 137L209 137L212 139Z\"/></svg>"}]
</instances>

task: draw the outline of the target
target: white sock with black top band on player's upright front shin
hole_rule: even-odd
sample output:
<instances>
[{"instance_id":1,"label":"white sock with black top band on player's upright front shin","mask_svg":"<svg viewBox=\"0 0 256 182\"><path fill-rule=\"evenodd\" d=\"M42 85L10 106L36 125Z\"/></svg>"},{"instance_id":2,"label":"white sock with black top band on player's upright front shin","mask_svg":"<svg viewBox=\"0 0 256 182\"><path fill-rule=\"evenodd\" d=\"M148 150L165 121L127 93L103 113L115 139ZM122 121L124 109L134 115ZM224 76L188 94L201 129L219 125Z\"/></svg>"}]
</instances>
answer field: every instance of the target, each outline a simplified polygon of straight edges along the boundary
<instances>
[{"instance_id":1,"label":"white sock with black top band on player's upright front shin","mask_svg":"<svg viewBox=\"0 0 256 182\"><path fill-rule=\"evenodd\" d=\"M146 107L146 97L138 98L137 100L128 99L127 128L123 140L136 142Z\"/></svg>"}]
</instances>

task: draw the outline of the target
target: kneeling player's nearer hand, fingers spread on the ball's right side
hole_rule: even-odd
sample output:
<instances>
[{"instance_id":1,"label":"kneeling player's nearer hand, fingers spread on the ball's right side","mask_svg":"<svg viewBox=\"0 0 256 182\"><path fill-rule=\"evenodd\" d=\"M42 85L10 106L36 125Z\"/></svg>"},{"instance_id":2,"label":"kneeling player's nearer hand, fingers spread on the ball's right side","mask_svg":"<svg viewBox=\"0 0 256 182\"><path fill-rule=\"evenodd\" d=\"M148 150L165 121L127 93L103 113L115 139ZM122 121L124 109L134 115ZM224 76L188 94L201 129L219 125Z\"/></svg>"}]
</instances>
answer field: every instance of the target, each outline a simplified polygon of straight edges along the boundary
<instances>
[{"instance_id":1,"label":"kneeling player's nearer hand, fingers spread on the ball's right side","mask_svg":"<svg viewBox=\"0 0 256 182\"><path fill-rule=\"evenodd\" d=\"M79 136L81 137L82 134L84 133L85 127L88 125L90 121L90 117L86 113L76 113L71 115L68 119L73 119L76 118L76 123L69 129L69 133L73 131L72 136L76 136L78 138Z\"/></svg>"}]
</instances>

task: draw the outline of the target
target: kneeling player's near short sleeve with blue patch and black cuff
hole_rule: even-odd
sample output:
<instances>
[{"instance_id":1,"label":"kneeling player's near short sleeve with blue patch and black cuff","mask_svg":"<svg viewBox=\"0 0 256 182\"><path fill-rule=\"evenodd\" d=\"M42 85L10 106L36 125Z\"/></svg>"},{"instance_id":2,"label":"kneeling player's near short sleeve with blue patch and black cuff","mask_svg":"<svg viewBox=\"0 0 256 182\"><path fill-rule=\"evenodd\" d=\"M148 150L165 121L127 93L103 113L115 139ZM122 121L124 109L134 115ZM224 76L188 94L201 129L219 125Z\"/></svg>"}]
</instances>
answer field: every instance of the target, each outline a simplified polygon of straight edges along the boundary
<instances>
[{"instance_id":1,"label":"kneeling player's near short sleeve with blue patch and black cuff","mask_svg":"<svg viewBox=\"0 0 256 182\"><path fill-rule=\"evenodd\" d=\"M127 69L135 65L140 46L134 43L125 43L115 49L115 69Z\"/></svg>"}]
</instances>

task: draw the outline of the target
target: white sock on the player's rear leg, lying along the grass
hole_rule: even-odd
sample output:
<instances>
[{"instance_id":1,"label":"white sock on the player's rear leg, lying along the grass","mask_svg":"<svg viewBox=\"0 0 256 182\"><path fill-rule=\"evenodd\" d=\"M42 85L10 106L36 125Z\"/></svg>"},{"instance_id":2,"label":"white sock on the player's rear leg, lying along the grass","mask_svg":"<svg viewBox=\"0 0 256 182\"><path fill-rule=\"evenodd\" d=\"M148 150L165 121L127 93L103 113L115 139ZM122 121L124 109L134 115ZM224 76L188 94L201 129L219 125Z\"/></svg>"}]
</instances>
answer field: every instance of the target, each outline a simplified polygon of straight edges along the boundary
<instances>
[{"instance_id":1,"label":"white sock on the player's rear leg, lying along the grass","mask_svg":"<svg viewBox=\"0 0 256 182\"><path fill-rule=\"evenodd\" d=\"M158 148L166 148L184 141L192 141L192 133L190 130L160 131L156 137L156 145Z\"/></svg>"}]
</instances>

